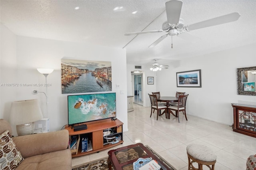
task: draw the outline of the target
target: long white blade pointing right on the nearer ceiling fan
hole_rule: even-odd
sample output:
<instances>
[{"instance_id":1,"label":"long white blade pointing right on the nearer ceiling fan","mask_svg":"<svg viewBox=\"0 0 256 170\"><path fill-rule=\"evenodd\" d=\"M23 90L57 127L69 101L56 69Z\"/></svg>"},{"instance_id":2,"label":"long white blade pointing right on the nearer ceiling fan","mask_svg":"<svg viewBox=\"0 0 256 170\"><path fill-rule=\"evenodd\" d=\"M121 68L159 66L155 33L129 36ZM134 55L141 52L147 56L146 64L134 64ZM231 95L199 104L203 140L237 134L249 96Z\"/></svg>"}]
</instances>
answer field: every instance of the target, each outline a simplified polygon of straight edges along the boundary
<instances>
[{"instance_id":1,"label":"long white blade pointing right on the nearer ceiling fan","mask_svg":"<svg viewBox=\"0 0 256 170\"><path fill-rule=\"evenodd\" d=\"M238 12L234 12L234 13L227 14L227 15L224 15L224 16L219 16L219 17L216 17L216 18L212 18L210 20L205 20L205 21L202 21L202 22L191 24L186 28L186 30L191 31L191 30L197 30L197 29L200 29L200 28L206 28L206 27L210 27L210 26L225 24L225 23L228 23L228 22L236 21L236 20L238 20L239 17L240 17L240 14Z\"/></svg>"}]
</instances>

